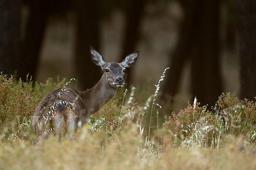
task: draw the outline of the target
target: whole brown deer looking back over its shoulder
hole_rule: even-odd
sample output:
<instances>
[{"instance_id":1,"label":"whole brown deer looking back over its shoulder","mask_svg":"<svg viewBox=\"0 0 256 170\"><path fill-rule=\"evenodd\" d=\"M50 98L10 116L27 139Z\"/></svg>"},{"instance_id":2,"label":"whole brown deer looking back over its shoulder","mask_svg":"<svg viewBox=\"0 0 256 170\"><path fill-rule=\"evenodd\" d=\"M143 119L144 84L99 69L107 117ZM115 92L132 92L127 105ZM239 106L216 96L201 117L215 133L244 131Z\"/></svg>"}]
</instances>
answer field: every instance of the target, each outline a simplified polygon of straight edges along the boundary
<instances>
[{"instance_id":1,"label":"whole brown deer looking back over its shoulder","mask_svg":"<svg viewBox=\"0 0 256 170\"><path fill-rule=\"evenodd\" d=\"M125 85L126 68L137 61L139 51L128 54L122 62L105 62L95 48L90 47L90 58L104 72L99 82L86 91L73 88L57 88L45 95L37 105L32 117L37 136L54 133L58 138L73 138L77 128L87 123L89 116L102 108L115 94L117 88Z\"/></svg>"}]
</instances>

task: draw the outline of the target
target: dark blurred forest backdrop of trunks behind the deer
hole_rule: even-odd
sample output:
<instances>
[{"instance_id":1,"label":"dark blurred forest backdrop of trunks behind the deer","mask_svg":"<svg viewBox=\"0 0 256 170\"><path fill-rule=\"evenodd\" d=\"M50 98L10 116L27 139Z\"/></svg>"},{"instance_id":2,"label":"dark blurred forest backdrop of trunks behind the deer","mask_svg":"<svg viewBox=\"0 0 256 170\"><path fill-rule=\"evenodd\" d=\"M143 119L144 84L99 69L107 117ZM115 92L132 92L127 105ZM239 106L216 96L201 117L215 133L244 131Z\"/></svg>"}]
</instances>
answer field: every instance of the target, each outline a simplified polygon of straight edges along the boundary
<instances>
[{"instance_id":1,"label":"dark blurred forest backdrop of trunks behind the deer","mask_svg":"<svg viewBox=\"0 0 256 170\"><path fill-rule=\"evenodd\" d=\"M254 99L255 9L253 0L0 0L0 71L76 78L86 90L102 75L90 46L106 62L139 49L128 87L154 88L170 67L161 99L178 110L195 96L212 106L221 92Z\"/></svg>"}]
</instances>

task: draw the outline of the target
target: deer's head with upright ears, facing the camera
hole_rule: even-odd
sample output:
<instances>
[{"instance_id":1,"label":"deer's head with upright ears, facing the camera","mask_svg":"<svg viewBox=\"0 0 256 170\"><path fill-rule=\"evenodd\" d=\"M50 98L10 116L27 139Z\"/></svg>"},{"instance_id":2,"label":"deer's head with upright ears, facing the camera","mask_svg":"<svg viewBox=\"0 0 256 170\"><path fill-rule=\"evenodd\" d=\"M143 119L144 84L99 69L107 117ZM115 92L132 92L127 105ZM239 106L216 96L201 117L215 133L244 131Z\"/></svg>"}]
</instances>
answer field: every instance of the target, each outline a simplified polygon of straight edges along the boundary
<instances>
[{"instance_id":1,"label":"deer's head with upright ears, facing the camera","mask_svg":"<svg viewBox=\"0 0 256 170\"><path fill-rule=\"evenodd\" d=\"M94 64L99 65L104 71L108 85L113 88L121 88L125 85L124 74L126 69L132 67L139 55L139 51L128 54L121 63L105 62L102 55L93 47L90 47L90 57Z\"/></svg>"}]
</instances>

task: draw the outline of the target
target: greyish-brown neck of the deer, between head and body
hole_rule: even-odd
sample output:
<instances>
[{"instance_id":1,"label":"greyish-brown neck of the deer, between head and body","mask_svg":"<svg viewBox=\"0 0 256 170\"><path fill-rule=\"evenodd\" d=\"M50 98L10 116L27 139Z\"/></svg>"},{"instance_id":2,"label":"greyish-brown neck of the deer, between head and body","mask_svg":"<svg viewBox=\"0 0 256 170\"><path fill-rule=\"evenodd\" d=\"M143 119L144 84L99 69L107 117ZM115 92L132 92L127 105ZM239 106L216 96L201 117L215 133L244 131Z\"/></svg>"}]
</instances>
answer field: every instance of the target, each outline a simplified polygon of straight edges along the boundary
<instances>
[{"instance_id":1,"label":"greyish-brown neck of the deer, between head and body","mask_svg":"<svg viewBox=\"0 0 256 170\"><path fill-rule=\"evenodd\" d=\"M99 111L114 96L115 92L116 88L108 85L105 73L93 88L80 92L87 116Z\"/></svg>"}]
</instances>

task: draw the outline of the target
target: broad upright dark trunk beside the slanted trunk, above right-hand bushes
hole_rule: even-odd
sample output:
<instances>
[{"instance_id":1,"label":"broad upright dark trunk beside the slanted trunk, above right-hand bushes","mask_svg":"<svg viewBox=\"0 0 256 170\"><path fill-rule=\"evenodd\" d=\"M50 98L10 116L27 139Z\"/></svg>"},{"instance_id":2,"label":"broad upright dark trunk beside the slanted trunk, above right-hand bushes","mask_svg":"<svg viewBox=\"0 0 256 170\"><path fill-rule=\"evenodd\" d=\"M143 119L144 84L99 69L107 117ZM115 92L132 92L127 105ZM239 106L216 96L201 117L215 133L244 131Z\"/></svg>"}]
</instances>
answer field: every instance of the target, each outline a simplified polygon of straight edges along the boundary
<instances>
[{"instance_id":1,"label":"broad upright dark trunk beside the slanted trunk, above right-hand bushes","mask_svg":"<svg viewBox=\"0 0 256 170\"><path fill-rule=\"evenodd\" d=\"M221 94L219 66L219 0L198 3L197 38L192 44L192 94L212 106Z\"/></svg>"}]
</instances>

